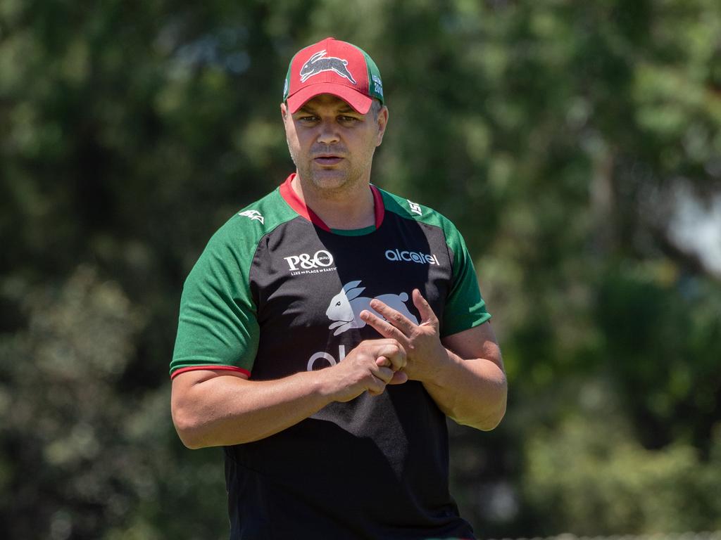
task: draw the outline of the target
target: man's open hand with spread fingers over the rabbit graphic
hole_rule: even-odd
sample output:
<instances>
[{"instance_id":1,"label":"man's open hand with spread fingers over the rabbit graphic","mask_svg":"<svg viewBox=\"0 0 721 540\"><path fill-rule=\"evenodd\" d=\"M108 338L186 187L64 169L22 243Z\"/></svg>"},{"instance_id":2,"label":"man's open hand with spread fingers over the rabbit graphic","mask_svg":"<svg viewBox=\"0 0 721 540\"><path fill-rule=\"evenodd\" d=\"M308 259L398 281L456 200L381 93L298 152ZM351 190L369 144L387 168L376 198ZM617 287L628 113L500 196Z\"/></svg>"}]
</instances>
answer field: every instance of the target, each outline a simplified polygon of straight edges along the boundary
<instances>
[{"instance_id":1,"label":"man's open hand with spread fingers over the rabbit graphic","mask_svg":"<svg viewBox=\"0 0 721 540\"><path fill-rule=\"evenodd\" d=\"M383 320L368 310L361 311L361 319L378 330L381 336L397 340L408 359L404 372L409 379L433 381L435 372L448 361L448 352L441 343L438 318L418 289L413 289L413 304L420 312L421 323L415 324L402 313L380 300L371 300L371 307L386 318Z\"/></svg>"}]
</instances>

